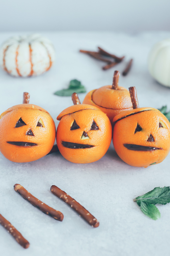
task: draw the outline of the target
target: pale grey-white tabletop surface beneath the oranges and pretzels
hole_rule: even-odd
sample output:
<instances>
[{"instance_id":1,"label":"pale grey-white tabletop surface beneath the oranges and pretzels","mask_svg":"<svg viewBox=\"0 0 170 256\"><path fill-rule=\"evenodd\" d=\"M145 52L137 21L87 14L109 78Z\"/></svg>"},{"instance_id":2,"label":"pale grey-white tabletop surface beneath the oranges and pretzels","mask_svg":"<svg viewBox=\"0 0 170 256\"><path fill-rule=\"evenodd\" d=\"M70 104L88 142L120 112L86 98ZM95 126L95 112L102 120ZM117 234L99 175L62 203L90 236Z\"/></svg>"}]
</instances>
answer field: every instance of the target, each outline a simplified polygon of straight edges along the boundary
<instances>
[{"instance_id":1,"label":"pale grey-white tabletop surface beneath the oranges and pretzels","mask_svg":"<svg viewBox=\"0 0 170 256\"><path fill-rule=\"evenodd\" d=\"M22 33L23 34L23 33ZM14 33L1 33L0 42ZM123 71L125 62L108 71L103 63L79 53L79 49L95 50L101 46L117 54L134 58L127 77L120 77L123 87L135 86L139 105L170 109L170 88L155 82L147 69L147 56L152 45L170 37L170 33L154 32L137 35L122 33L43 33L56 48L55 65L42 76L14 78L0 70L0 112L22 102L24 91L30 103L40 105L53 116L72 104L71 97L53 93L67 87L69 80L79 79L87 91L111 84L115 69ZM80 94L80 100L85 94ZM0 226L0 255L169 255L170 204L158 205L159 220L145 216L133 199L157 186L170 185L170 155L158 165L136 168L125 164L111 144L106 155L95 163L73 164L59 153L30 163L13 163L0 154L0 213L30 242L23 249ZM62 222L43 214L13 189L15 183L63 212ZM50 192L57 185L79 201L99 221L92 228L63 201Z\"/></svg>"}]
</instances>

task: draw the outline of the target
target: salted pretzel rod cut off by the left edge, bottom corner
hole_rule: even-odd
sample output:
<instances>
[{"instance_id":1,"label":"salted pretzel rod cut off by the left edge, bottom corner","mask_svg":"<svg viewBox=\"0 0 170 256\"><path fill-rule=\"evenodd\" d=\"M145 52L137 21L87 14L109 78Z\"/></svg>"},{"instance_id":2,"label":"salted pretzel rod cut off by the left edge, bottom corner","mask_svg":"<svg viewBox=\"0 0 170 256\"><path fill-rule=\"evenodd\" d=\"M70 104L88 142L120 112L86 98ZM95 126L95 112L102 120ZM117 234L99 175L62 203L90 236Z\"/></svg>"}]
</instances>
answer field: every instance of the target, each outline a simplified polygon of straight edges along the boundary
<instances>
[{"instance_id":1,"label":"salted pretzel rod cut off by the left edge, bottom corner","mask_svg":"<svg viewBox=\"0 0 170 256\"><path fill-rule=\"evenodd\" d=\"M14 226L1 214L0 223L23 248L27 249L30 246L30 243L21 235L21 233L16 228L14 228Z\"/></svg>"}]
</instances>

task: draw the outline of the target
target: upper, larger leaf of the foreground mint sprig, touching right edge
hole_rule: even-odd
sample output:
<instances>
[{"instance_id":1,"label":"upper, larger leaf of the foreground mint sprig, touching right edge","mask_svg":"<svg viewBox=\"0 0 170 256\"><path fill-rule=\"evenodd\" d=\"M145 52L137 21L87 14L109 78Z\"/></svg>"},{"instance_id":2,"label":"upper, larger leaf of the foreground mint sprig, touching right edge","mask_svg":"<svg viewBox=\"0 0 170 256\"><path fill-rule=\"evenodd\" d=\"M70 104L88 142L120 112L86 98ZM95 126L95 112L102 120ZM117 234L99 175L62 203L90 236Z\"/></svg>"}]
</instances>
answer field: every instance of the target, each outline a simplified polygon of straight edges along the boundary
<instances>
[{"instance_id":1,"label":"upper, larger leaf of the foreground mint sprig, touching right edge","mask_svg":"<svg viewBox=\"0 0 170 256\"><path fill-rule=\"evenodd\" d=\"M170 188L169 187L156 187L153 190L149 191L143 196L138 196L134 199L134 202L136 201L142 201L145 203L150 203L150 204L162 204L166 205L167 203L170 202ZM139 202L140 204L140 202ZM138 205L139 205L138 204Z\"/></svg>"}]
</instances>

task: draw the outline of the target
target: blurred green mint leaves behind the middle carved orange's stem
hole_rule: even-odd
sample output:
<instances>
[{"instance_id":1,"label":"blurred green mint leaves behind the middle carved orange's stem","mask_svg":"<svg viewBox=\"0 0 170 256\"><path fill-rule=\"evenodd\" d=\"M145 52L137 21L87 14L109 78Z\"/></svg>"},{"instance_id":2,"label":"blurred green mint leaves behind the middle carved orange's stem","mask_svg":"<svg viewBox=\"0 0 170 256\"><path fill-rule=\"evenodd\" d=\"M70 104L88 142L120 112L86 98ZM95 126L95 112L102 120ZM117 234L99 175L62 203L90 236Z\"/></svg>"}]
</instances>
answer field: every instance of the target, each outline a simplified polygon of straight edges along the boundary
<instances>
[{"instance_id":1,"label":"blurred green mint leaves behind the middle carved orange's stem","mask_svg":"<svg viewBox=\"0 0 170 256\"><path fill-rule=\"evenodd\" d=\"M68 89L62 89L62 90L56 91L54 94L58 96L71 96L74 92L76 93L86 92L85 87L81 84L80 81L76 79L70 81Z\"/></svg>"}]
</instances>

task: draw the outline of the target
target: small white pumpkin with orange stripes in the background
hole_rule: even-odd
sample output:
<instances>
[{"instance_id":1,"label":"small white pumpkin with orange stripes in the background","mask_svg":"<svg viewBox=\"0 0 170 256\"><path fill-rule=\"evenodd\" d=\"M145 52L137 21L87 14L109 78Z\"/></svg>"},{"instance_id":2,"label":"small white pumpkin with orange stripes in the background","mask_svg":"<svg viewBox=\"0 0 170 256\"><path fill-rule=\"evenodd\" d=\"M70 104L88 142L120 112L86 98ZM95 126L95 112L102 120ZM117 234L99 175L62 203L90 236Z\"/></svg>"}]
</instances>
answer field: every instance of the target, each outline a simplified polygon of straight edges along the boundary
<instances>
[{"instance_id":1,"label":"small white pumpkin with orange stripes in the background","mask_svg":"<svg viewBox=\"0 0 170 256\"><path fill-rule=\"evenodd\" d=\"M37 76L49 70L55 59L51 41L37 34L9 38L0 49L0 65L12 76Z\"/></svg>"}]
</instances>

